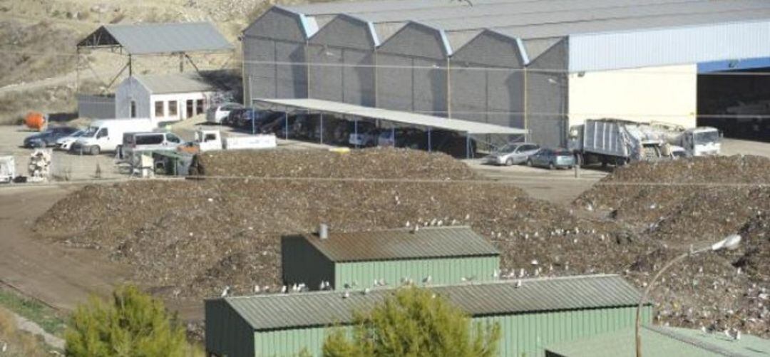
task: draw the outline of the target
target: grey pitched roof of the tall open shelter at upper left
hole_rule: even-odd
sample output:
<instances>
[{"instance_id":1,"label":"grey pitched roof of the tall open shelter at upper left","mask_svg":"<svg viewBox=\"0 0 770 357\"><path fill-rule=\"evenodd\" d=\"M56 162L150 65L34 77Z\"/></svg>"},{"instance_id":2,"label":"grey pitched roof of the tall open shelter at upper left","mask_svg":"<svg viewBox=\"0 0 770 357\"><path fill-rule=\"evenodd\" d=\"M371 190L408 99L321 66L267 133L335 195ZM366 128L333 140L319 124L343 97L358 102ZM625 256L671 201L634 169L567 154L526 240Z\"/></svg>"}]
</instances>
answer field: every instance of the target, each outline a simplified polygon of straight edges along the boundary
<instances>
[{"instance_id":1,"label":"grey pitched roof of the tall open shelter at upper left","mask_svg":"<svg viewBox=\"0 0 770 357\"><path fill-rule=\"evenodd\" d=\"M122 47L132 55L233 49L210 22L102 25L79 42L78 47Z\"/></svg>"}]
</instances>

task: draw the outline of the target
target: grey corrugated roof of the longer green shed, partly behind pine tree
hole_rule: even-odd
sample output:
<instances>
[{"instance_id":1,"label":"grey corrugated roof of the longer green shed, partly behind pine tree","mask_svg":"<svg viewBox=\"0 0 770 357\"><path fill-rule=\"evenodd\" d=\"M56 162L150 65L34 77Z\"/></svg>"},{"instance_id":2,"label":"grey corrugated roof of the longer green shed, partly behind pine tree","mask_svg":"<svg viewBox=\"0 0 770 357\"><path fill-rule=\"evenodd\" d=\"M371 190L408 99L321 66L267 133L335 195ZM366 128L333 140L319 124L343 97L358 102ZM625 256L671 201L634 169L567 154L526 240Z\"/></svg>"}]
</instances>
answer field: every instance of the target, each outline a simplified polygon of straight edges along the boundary
<instances>
[{"instance_id":1,"label":"grey corrugated roof of the longer green shed, partly behind pine tree","mask_svg":"<svg viewBox=\"0 0 770 357\"><path fill-rule=\"evenodd\" d=\"M641 294L618 275L582 275L563 278L523 279L464 285L431 286L467 314L480 317L522 312L629 307ZM229 297L223 299L258 331L298 329L352 322L353 312L372 309L395 289L373 289L368 294L301 292Z\"/></svg>"}]
</instances>

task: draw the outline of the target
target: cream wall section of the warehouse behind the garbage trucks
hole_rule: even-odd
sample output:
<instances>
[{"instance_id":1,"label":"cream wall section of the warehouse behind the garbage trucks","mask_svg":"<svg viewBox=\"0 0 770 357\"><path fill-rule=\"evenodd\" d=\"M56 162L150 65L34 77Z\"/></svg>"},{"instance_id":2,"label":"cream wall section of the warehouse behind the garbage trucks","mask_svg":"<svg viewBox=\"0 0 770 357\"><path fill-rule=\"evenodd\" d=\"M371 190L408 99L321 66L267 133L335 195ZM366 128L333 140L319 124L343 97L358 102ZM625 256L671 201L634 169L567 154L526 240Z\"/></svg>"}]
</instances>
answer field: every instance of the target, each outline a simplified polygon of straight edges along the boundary
<instances>
[{"instance_id":1,"label":"cream wall section of the warehouse behind the garbage trucks","mask_svg":"<svg viewBox=\"0 0 770 357\"><path fill-rule=\"evenodd\" d=\"M571 74L570 125L587 118L622 118L695 127L697 65Z\"/></svg>"}]
</instances>

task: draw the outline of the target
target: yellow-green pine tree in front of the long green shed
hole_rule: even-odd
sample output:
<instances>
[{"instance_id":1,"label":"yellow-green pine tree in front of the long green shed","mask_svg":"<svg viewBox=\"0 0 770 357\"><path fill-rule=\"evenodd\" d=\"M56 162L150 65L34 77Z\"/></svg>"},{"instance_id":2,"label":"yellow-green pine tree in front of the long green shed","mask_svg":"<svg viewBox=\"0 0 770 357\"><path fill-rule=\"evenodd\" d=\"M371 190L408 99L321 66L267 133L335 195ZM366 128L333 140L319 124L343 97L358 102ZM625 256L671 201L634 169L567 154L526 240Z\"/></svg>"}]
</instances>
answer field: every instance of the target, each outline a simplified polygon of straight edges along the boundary
<instances>
[{"instance_id":1,"label":"yellow-green pine tree in front of the long green shed","mask_svg":"<svg viewBox=\"0 0 770 357\"><path fill-rule=\"evenodd\" d=\"M325 357L497 355L500 325L470 318L428 289L398 289L352 328L338 327L323 344Z\"/></svg>"}]
</instances>

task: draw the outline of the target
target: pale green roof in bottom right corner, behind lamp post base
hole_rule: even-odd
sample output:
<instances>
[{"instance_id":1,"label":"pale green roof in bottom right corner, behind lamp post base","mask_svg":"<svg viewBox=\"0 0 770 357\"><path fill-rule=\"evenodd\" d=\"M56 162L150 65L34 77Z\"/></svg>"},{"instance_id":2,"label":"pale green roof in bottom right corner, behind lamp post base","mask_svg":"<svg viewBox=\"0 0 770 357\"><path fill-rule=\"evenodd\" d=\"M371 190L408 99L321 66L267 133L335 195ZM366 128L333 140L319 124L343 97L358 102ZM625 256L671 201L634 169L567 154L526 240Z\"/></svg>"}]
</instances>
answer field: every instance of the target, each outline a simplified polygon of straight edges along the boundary
<instances>
[{"instance_id":1,"label":"pale green roof in bottom right corner, behind lamp post base","mask_svg":"<svg viewBox=\"0 0 770 357\"><path fill-rule=\"evenodd\" d=\"M680 357L770 355L770 340L742 335L736 340L724 333L701 332L663 326L644 326L641 331L644 355L676 355ZM547 351L564 357L632 357L634 329L624 329L586 339L548 346Z\"/></svg>"}]
</instances>

